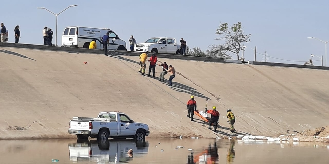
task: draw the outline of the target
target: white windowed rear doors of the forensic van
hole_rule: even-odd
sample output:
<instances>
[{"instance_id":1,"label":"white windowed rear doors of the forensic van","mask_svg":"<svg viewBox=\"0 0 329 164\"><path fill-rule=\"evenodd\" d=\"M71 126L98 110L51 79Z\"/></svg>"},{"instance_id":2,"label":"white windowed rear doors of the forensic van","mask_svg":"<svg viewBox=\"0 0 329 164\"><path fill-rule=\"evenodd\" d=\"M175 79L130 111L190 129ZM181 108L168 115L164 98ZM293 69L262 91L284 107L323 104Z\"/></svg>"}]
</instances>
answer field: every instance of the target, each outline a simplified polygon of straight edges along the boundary
<instances>
[{"instance_id":1,"label":"white windowed rear doors of the forensic van","mask_svg":"<svg viewBox=\"0 0 329 164\"><path fill-rule=\"evenodd\" d=\"M65 28L62 36L62 45L74 47L78 45L78 28L67 27Z\"/></svg>"}]
</instances>

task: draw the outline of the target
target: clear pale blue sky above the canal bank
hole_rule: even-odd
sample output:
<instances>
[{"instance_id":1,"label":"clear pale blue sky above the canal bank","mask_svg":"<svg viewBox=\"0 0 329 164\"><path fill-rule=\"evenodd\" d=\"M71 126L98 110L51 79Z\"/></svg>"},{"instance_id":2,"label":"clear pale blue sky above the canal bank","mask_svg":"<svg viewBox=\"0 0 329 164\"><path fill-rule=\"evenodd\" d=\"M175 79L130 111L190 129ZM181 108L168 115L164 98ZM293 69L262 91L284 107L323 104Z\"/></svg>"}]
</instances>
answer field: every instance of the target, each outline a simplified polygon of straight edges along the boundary
<instances>
[{"instance_id":1,"label":"clear pale blue sky above the canal bank","mask_svg":"<svg viewBox=\"0 0 329 164\"><path fill-rule=\"evenodd\" d=\"M137 42L158 36L183 37L189 47L206 50L209 45L219 43L214 38L220 22L238 21L246 33L252 34L251 42L245 44L246 60L254 60L252 49L257 46L259 53L266 51L271 57L305 62L311 54L324 57L325 49L324 43L307 37L329 41L328 0L6 1L0 22L10 32L9 42L14 42L13 30L19 25L20 43L43 44L43 27L55 31L55 16L37 7L58 13L69 5L79 6L58 16L58 44L66 26L85 26L111 28L125 41L130 35L134 35ZM257 61L263 60L262 57L257 54ZM271 57L270 62L303 64ZM321 65L321 61L314 64Z\"/></svg>"}]
</instances>

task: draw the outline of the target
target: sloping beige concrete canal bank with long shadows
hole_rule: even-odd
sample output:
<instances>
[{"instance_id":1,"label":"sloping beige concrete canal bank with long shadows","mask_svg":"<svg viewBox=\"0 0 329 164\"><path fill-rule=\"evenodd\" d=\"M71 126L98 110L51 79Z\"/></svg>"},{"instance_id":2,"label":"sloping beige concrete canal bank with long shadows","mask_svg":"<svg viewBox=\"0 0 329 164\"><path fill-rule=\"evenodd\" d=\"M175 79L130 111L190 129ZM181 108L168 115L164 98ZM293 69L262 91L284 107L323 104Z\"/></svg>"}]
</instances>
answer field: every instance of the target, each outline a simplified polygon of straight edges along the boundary
<instances>
[{"instance_id":1,"label":"sloping beige concrete canal bank with long shadows","mask_svg":"<svg viewBox=\"0 0 329 164\"><path fill-rule=\"evenodd\" d=\"M186 102L236 114L240 134L278 135L329 122L325 70L159 58L177 70L174 87L140 75L138 57L0 47L0 138L67 138L72 116L121 111L150 125L150 137L215 137L191 122ZM84 64L88 62L88 64ZM156 76L161 67L157 67ZM168 75L165 76L168 78ZM232 135L220 118L217 135Z\"/></svg>"}]
</instances>

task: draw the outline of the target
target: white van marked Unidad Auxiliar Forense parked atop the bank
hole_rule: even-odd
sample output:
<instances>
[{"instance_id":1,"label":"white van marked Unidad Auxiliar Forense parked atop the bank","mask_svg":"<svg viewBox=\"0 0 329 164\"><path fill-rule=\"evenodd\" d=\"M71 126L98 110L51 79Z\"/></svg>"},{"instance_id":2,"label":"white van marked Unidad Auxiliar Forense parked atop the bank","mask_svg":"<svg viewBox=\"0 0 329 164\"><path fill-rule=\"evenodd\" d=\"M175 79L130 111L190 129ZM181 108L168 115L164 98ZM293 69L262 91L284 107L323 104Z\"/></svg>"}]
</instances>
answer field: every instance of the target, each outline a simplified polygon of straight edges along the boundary
<instances>
[{"instance_id":1,"label":"white van marked Unidad Auxiliar Forense parked atop the bank","mask_svg":"<svg viewBox=\"0 0 329 164\"><path fill-rule=\"evenodd\" d=\"M96 40L96 49L103 49L101 38L106 32L110 33L108 50L127 50L126 42L111 29L98 29L89 27L66 27L62 36L62 47L89 48L90 42Z\"/></svg>"}]
</instances>

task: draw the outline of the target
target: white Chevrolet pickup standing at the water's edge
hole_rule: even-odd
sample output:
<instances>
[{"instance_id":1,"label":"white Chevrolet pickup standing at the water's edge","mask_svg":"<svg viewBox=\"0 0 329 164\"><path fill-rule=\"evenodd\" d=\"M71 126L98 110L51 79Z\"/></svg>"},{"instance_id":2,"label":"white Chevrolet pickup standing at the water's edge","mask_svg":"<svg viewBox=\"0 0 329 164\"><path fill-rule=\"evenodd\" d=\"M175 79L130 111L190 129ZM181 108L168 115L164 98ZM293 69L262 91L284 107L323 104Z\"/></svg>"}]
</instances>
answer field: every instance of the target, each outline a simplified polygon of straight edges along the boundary
<instances>
[{"instance_id":1,"label":"white Chevrolet pickup standing at the water's edge","mask_svg":"<svg viewBox=\"0 0 329 164\"><path fill-rule=\"evenodd\" d=\"M78 139L91 138L135 138L145 139L150 134L147 124L137 123L125 113L100 112L97 118L73 117L68 133L76 134Z\"/></svg>"}]
</instances>

